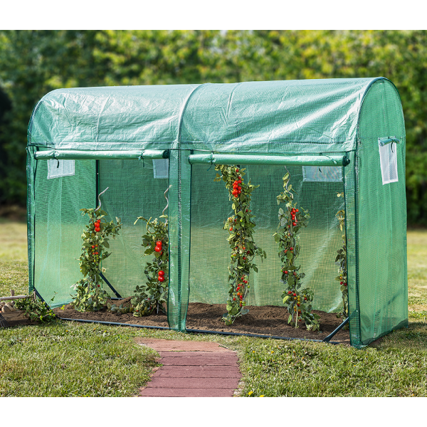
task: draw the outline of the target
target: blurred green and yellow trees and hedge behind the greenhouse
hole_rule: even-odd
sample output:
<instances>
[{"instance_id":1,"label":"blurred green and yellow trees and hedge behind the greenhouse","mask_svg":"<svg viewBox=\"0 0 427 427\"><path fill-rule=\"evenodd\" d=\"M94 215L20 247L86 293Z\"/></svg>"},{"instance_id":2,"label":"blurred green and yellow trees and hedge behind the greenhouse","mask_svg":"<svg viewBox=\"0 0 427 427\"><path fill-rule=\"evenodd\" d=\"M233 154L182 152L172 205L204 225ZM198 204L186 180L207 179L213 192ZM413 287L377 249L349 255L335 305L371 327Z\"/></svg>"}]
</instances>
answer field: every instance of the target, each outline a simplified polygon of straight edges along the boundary
<instances>
[{"instance_id":1,"label":"blurred green and yellow trees and hedge behind the greenhouse","mask_svg":"<svg viewBox=\"0 0 427 427\"><path fill-rule=\"evenodd\" d=\"M57 88L384 76L408 134L411 225L427 225L427 30L0 30L0 204L25 204L26 132Z\"/></svg>"}]
</instances>

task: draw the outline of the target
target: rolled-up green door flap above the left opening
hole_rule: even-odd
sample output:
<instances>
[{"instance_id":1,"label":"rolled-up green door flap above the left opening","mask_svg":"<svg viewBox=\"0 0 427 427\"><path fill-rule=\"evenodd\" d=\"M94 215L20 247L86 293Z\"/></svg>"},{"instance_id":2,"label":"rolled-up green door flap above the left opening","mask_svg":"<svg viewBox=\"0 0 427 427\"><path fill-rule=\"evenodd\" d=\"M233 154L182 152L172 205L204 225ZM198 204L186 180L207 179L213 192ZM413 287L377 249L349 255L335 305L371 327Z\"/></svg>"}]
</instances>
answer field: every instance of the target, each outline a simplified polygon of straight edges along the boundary
<instances>
[{"instance_id":1,"label":"rolled-up green door flap above the left opening","mask_svg":"<svg viewBox=\"0 0 427 427\"><path fill-rule=\"evenodd\" d=\"M117 159L117 160L132 160L132 159L168 159L169 152L167 150L132 150L132 151L76 151L76 150L60 150L49 149L46 151L36 152L34 154L36 160L102 160L102 159Z\"/></svg>"}]
</instances>

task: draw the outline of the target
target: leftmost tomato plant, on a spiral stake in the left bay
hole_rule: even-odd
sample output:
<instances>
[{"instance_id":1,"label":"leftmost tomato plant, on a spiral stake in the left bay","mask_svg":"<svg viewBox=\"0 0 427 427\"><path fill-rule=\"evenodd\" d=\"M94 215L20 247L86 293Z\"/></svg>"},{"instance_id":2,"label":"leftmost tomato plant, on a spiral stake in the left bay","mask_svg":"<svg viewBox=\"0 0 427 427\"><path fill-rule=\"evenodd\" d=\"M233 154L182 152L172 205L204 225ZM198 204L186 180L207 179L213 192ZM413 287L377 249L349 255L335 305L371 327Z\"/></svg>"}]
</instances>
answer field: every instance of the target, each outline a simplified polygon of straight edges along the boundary
<instances>
[{"instance_id":1,"label":"leftmost tomato plant, on a spiral stake in the left bay","mask_svg":"<svg viewBox=\"0 0 427 427\"><path fill-rule=\"evenodd\" d=\"M107 222L105 211L95 209L81 209L80 211L83 212L83 216L89 216L90 222L82 235L80 271L83 279L72 287L77 294L72 295L74 299L71 305L79 312L94 312L101 310L108 300L107 292L102 290L100 265L111 255L107 252L107 249L110 248L109 239L118 236L122 223L119 218L116 218L116 223Z\"/></svg>"}]
</instances>

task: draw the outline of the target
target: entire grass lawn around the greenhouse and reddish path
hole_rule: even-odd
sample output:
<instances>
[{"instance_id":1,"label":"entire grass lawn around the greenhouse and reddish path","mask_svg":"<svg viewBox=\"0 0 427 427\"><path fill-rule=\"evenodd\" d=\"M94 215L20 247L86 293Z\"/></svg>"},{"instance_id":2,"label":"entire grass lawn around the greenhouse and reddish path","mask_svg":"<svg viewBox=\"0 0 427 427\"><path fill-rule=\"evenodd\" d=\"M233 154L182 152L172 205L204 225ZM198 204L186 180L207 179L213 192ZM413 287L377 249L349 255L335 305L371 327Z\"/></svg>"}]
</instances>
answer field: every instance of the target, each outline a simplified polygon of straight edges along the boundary
<instances>
[{"instance_id":1,"label":"entire grass lawn around the greenhouse and reddish path","mask_svg":"<svg viewBox=\"0 0 427 427\"><path fill-rule=\"evenodd\" d=\"M0 219L0 295L28 292L26 224ZM135 337L235 349L243 397L427 396L427 231L408 232L410 327L364 350L57 322L0 330L0 396L135 396L156 353Z\"/></svg>"}]
</instances>

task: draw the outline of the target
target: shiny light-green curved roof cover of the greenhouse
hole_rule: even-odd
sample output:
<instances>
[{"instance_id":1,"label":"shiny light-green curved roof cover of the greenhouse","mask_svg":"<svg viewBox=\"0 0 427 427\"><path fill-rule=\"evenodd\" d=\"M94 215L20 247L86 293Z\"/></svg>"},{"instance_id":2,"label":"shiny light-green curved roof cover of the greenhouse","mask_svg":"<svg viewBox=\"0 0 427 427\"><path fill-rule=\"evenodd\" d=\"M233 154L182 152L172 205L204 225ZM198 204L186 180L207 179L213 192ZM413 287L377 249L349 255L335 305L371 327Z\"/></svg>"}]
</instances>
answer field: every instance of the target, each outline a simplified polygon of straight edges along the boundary
<instances>
[{"instance_id":1,"label":"shiny light-green curved roof cover of the greenhouse","mask_svg":"<svg viewBox=\"0 0 427 427\"><path fill-rule=\"evenodd\" d=\"M362 103L378 80L396 90L384 78L54 90L33 112L28 144L268 153L306 144L346 152L356 147Z\"/></svg>"}]
</instances>

